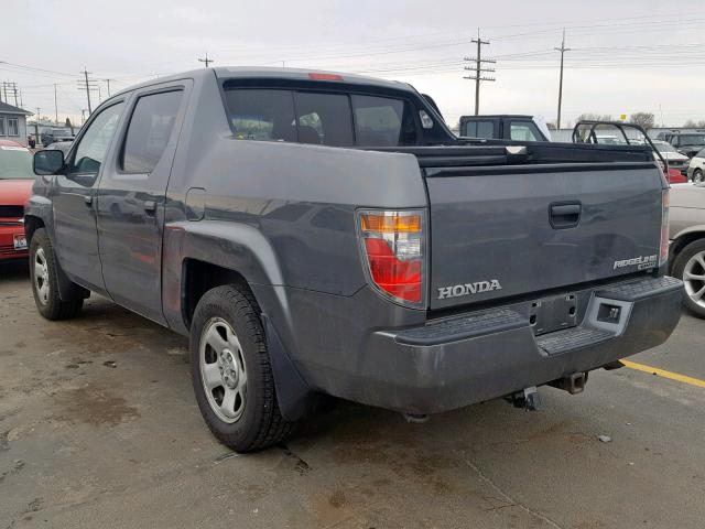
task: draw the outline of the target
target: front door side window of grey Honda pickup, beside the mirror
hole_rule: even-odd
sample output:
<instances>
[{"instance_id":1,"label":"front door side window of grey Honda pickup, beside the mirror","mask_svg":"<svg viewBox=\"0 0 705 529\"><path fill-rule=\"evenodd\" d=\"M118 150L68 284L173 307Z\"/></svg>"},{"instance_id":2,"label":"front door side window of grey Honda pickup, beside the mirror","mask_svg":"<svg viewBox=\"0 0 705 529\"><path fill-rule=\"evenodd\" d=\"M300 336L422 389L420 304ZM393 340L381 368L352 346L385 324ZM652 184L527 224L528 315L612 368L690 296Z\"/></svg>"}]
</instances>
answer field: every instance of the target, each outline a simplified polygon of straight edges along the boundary
<instances>
[{"instance_id":1,"label":"front door side window of grey Honda pickup, beside the mirror","mask_svg":"<svg viewBox=\"0 0 705 529\"><path fill-rule=\"evenodd\" d=\"M88 129L80 138L74 159L72 160L69 174L97 175L100 165L108 154L110 141L115 136L123 102L118 102L100 111L98 116L88 125Z\"/></svg>"}]
</instances>

